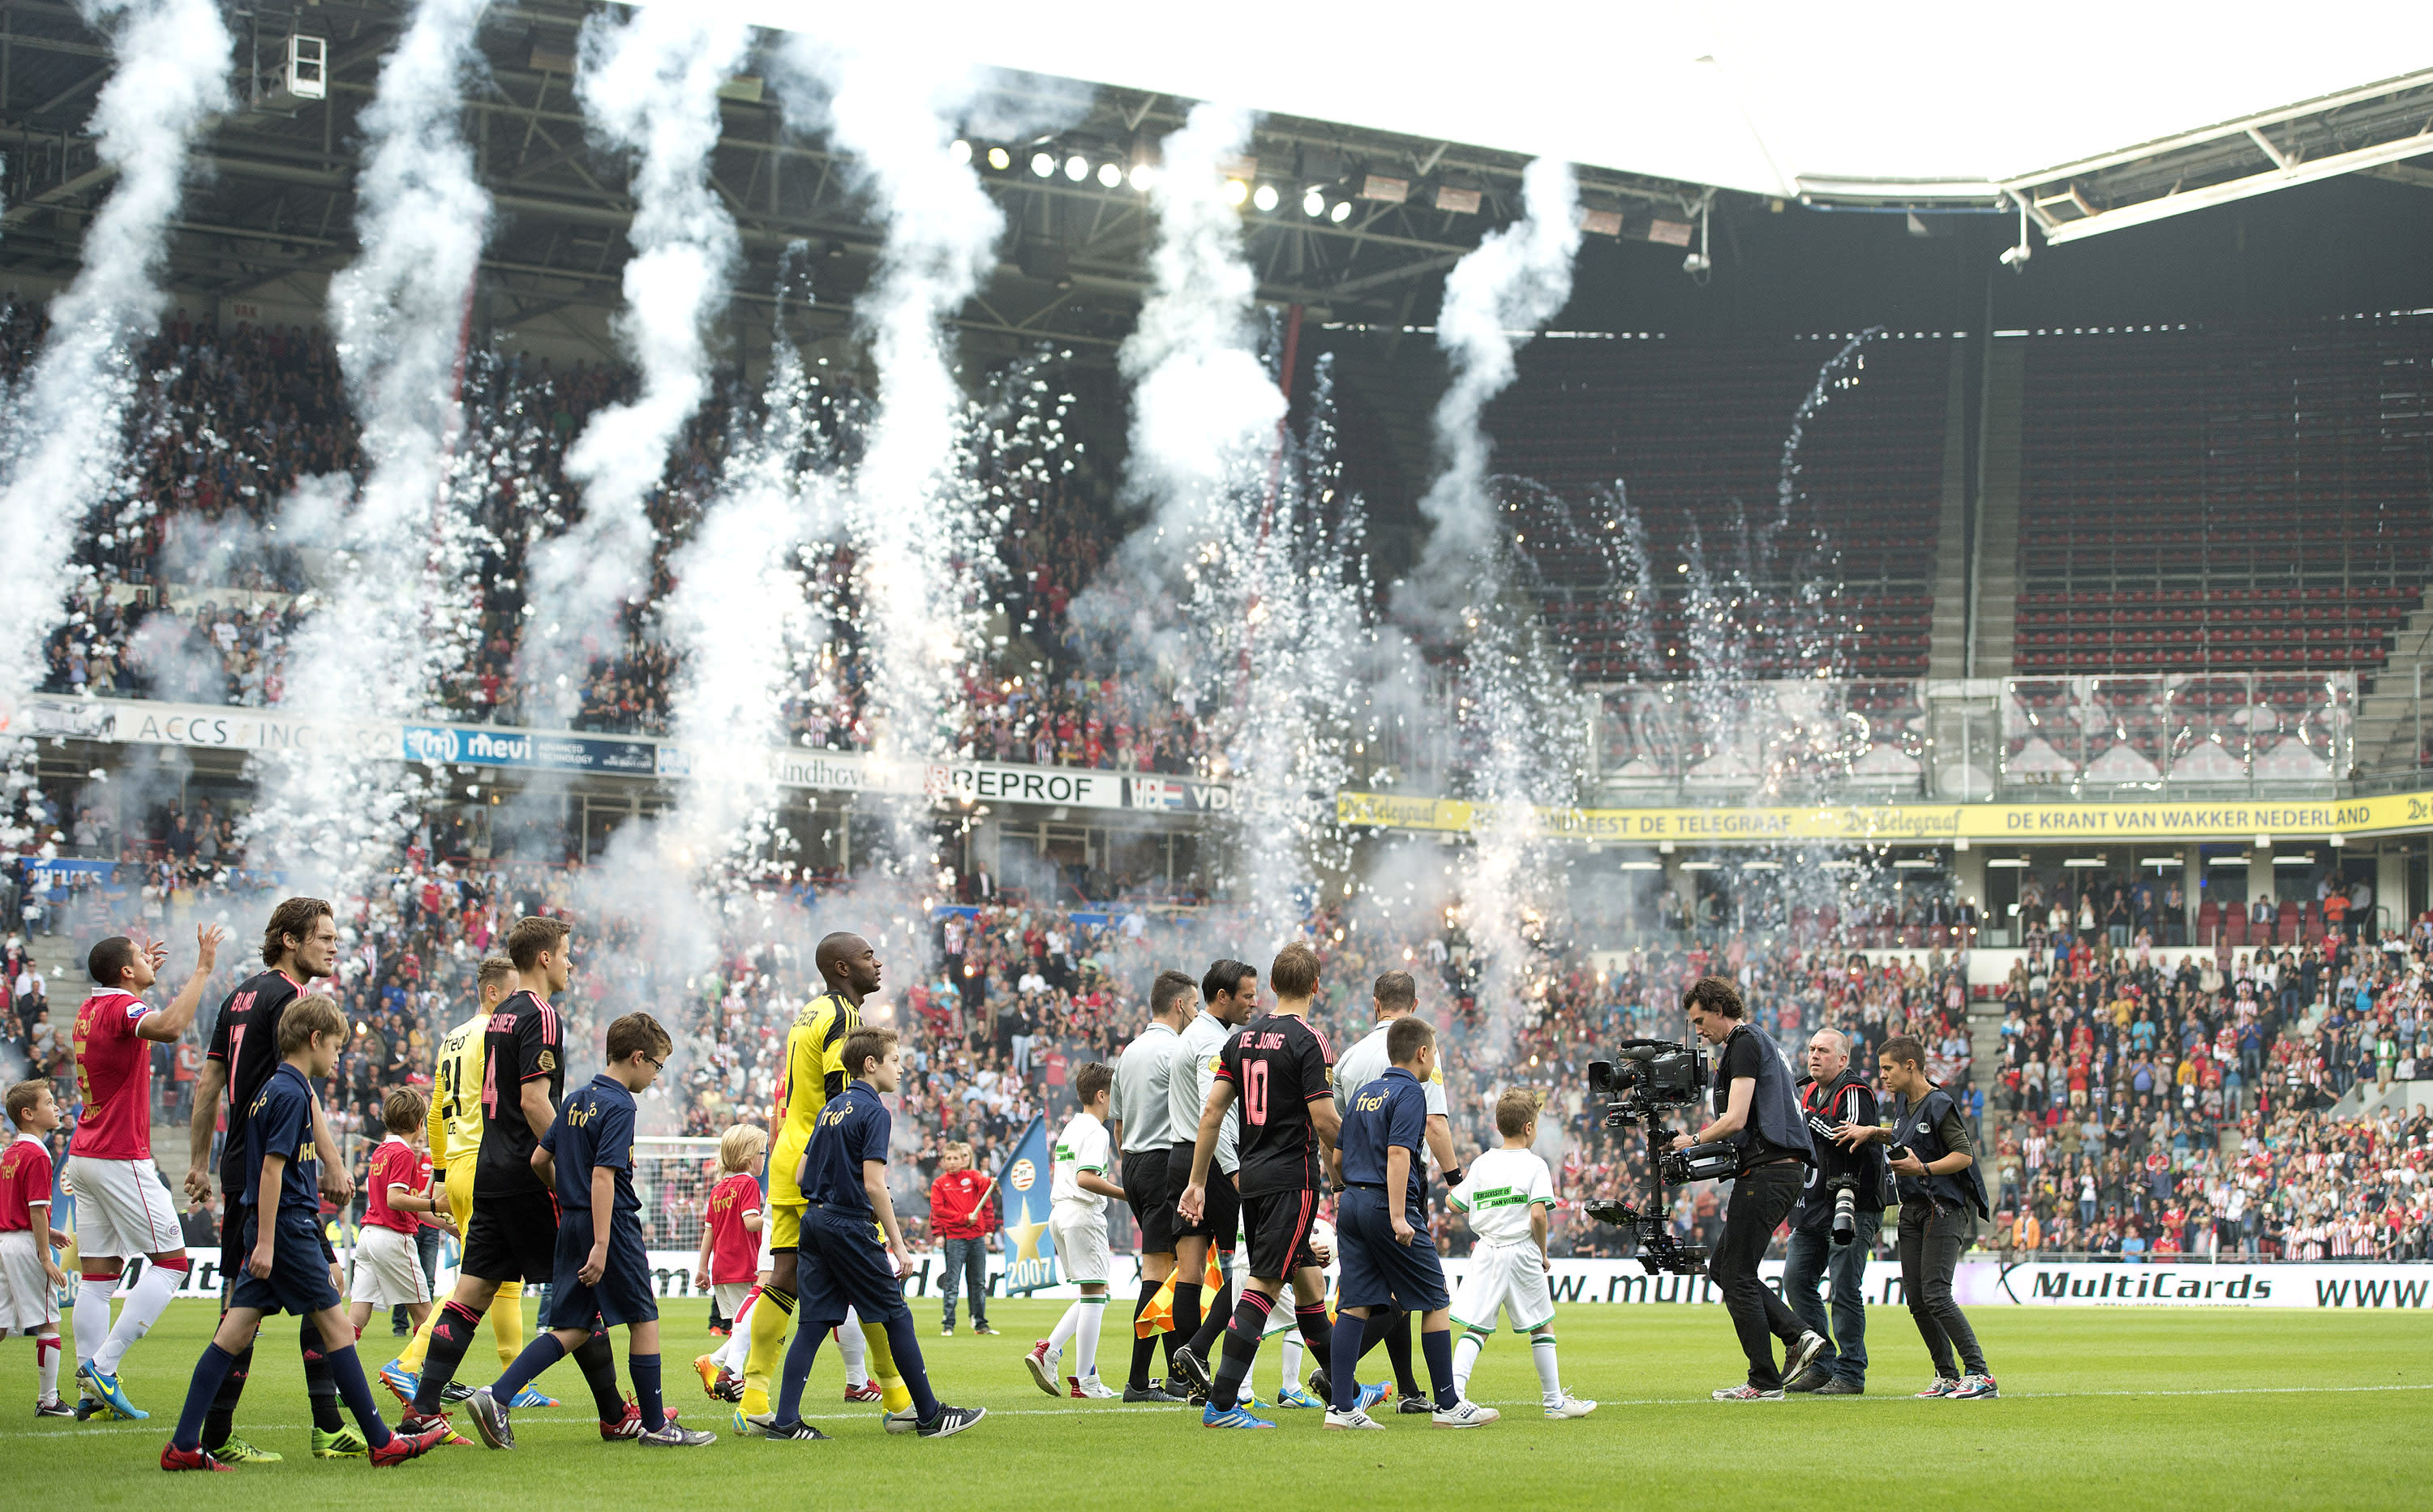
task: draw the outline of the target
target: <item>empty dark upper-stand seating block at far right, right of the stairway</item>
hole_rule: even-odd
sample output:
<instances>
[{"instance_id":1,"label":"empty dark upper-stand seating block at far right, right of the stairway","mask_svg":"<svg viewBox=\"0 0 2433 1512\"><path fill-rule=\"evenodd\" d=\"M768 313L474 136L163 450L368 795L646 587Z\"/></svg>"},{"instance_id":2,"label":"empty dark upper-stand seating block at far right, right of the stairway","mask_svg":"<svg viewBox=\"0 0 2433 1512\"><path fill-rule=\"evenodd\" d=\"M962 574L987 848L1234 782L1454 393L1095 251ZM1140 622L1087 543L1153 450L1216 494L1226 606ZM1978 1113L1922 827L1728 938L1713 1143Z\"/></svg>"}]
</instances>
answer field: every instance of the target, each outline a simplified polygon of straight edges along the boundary
<instances>
[{"instance_id":1,"label":"empty dark upper-stand seating block at far right, right of the stairway","mask_svg":"<svg viewBox=\"0 0 2433 1512\"><path fill-rule=\"evenodd\" d=\"M2433 318L2036 333L2019 673L2372 671L2433 557Z\"/></svg>"}]
</instances>

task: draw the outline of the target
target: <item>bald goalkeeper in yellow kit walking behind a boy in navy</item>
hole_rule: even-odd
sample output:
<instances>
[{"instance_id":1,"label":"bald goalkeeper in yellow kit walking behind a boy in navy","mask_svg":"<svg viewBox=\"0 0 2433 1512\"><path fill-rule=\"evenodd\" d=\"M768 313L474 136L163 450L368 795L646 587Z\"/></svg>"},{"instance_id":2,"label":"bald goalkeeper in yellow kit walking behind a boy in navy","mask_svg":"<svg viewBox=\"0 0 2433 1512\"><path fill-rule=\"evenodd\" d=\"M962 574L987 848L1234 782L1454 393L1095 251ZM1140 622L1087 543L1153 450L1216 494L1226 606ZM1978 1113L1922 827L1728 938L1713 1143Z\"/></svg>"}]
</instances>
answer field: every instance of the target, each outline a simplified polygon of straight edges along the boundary
<instances>
[{"instance_id":1,"label":"bald goalkeeper in yellow kit walking behind a boy in navy","mask_svg":"<svg viewBox=\"0 0 2433 1512\"><path fill-rule=\"evenodd\" d=\"M769 1111L769 1281L752 1303L744 1400L735 1410L735 1432L747 1437L759 1434L749 1420L769 1415L769 1371L786 1354L786 1322L793 1318L793 1252L803 1230L803 1189L796 1177L803 1172L803 1150L810 1147L820 1108L852 1079L844 1072L844 1040L861 1028L861 999L878 992L878 955L859 933L822 938L815 963L827 992L793 1016L793 1028L786 1033L786 1070L776 1084L776 1106ZM861 1337L871 1349L871 1381L881 1390L888 1432L912 1432L917 1427L912 1393L895 1371L888 1332L864 1322Z\"/></svg>"}]
</instances>

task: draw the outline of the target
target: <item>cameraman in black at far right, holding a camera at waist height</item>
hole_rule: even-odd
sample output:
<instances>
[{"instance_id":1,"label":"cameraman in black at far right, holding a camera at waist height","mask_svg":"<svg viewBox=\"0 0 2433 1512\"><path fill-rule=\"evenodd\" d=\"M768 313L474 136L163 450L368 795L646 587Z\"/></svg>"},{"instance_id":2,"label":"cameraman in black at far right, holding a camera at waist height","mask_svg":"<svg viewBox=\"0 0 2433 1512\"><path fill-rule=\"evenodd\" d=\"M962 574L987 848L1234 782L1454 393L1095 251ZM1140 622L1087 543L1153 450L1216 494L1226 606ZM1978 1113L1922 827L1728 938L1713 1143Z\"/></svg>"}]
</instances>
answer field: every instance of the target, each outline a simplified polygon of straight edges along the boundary
<instances>
[{"instance_id":1,"label":"cameraman in black at far right, holding a camera at waist height","mask_svg":"<svg viewBox=\"0 0 2433 1512\"><path fill-rule=\"evenodd\" d=\"M1985 1218L1985 1179L1968 1147L1968 1123L1951 1094L1927 1079L1927 1048L1915 1038L1888 1038L1881 1070L1883 1089L1893 1094L1890 1128L1844 1123L1832 1138L1852 1150L1869 1140L1893 1147L1893 1172L1900 1177L1900 1291L1927 1354L1934 1356L1934 1386L1917 1395L2002 1395L1985 1371L1976 1330L1951 1298L1961 1249L1976 1237L1976 1220ZM1959 1364L1951 1359L1954 1347Z\"/></svg>"}]
</instances>

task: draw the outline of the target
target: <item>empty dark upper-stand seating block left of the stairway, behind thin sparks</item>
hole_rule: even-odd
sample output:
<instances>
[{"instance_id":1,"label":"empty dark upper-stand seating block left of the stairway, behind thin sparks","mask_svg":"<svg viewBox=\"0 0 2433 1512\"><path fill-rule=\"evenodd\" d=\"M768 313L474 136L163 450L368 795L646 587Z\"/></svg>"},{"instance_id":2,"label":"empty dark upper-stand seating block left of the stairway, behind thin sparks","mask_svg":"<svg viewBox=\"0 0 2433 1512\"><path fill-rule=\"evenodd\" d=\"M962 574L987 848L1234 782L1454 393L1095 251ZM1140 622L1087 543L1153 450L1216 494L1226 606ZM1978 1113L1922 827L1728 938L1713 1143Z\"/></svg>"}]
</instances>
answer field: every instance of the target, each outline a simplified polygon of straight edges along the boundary
<instances>
[{"instance_id":1,"label":"empty dark upper-stand seating block left of the stairway, behind thin sparks","mask_svg":"<svg viewBox=\"0 0 2433 1512\"><path fill-rule=\"evenodd\" d=\"M1689 668L1752 678L1822 664L1927 668L1949 345L1878 335L1827 379L1837 338L1540 340L1489 413L1506 510L1581 678ZM1645 530L1657 605L1623 593L1620 501ZM1698 598L1710 583L1710 600ZM1715 617L1732 634L1693 634ZM1718 661L1723 661L1718 666Z\"/></svg>"}]
</instances>

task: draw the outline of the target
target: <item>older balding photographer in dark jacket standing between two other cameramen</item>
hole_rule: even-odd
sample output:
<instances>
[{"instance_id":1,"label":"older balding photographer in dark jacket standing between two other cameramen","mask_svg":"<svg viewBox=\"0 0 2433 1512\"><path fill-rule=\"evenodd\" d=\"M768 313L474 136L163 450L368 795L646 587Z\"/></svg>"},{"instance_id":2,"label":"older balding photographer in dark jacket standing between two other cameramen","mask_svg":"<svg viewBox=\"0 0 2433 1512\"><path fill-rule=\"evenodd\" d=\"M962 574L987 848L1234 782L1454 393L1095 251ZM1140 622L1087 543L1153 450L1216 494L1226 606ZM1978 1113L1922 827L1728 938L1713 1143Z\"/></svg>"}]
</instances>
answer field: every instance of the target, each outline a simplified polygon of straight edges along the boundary
<instances>
[{"instance_id":1,"label":"older balding photographer in dark jacket standing between two other cameramen","mask_svg":"<svg viewBox=\"0 0 2433 1512\"><path fill-rule=\"evenodd\" d=\"M1883 1228L1883 1211L1900 1201L1881 1150L1844 1150L1832 1143L1842 1123L1876 1125L1876 1094L1849 1065L1849 1036L1820 1028L1808 1040L1808 1074L1800 1111L1815 1143L1817 1169L1791 1211L1791 1259L1783 1264L1783 1301L1815 1332L1825 1330L1817 1281L1832 1274L1832 1349L1786 1381L1783 1390L1817 1395L1866 1395L1866 1257ZM1834 1237L1842 1189L1852 1191L1852 1235Z\"/></svg>"}]
</instances>

